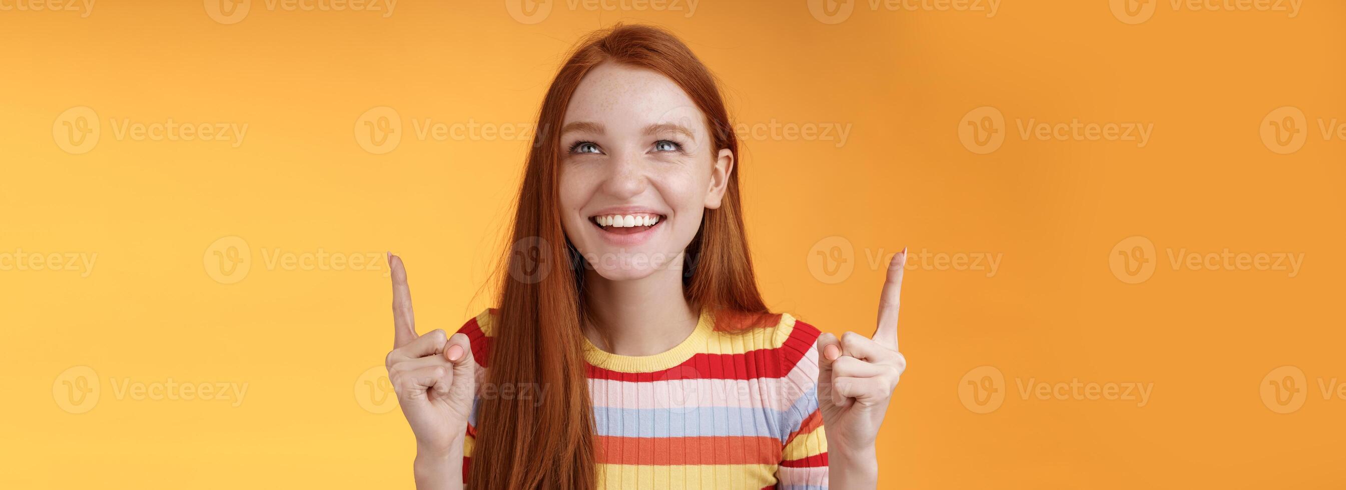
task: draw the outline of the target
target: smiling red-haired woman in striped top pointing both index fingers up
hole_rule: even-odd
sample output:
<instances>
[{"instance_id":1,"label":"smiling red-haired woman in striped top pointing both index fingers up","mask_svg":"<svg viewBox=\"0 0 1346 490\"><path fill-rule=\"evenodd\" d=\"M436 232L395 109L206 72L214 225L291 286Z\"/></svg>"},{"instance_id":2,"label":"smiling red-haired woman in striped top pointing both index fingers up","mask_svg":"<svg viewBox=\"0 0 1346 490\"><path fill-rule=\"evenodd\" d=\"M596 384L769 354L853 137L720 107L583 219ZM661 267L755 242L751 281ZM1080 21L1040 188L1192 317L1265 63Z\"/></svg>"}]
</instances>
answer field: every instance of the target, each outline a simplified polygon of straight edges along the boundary
<instances>
[{"instance_id":1,"label":"smiling red-haired woman in striped top pointing both index fingers up","mask_svg":"<svg viewBox=\"0 0 1346 490\"><path fill-rule=\"evenodd\" d=\"M906 368L906 250L872 339L770 312L724 102L662 30L595 32L557 73L538 128L498 308L452 337L417 335L402 260L388 257L386 365L416 435L416 485L874 489L875 438Z\"/></svg>"}]
</instances>

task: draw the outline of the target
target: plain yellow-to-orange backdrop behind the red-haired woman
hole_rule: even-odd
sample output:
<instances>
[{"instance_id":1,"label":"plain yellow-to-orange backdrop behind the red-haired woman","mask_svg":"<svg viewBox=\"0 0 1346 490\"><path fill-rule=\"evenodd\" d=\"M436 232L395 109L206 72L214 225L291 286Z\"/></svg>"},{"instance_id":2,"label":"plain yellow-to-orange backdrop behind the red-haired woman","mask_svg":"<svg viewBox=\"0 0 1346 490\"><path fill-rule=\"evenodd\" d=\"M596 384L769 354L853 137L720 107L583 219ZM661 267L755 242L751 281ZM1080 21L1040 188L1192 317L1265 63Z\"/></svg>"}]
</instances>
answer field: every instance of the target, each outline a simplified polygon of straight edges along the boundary
<instances>
[{"instance_id":1,"label":"plain yellow-to-orange backdrop behind the red-haired woman","mask_svg":"<svg viewBox=\"0 0 1346 490\"><path fill-rule=\"evenodd\" d=\"M223 24L210 1L102 0L81 18L0 0L0 486L411 487L411 432L362 378L390 347L386 265L268 264L393 250L420 328L456 328L490 298L479 288L528 143L421 140L413 121L532 123L561 54L618 20L682 36L740 124L849 125L844 144L746 141L774 308L868 334L879 254L1001 257L993 275L906 273L910 368L879 439L880 487L1346 486L1346 400L1319 392L1346 382L1346 262L1330 246L1346 141L1319 132L1346 123L1346 4L1289 18L1152 1L1128 24L1106 0L1004 1L989 18L851 0L839 23L806 1L703 0L690 16L682 0L551 1L524 23L501 1L404 0L384 18L253 0ZM58 120L75 106L101 124L78 155ZM376 106L402 124L384 155L353 136ZM958 136L980 106L1005 120L985 155ZM1259 136L1281 106L1307 117L1288 155ZM249 128L233 148L112 127L168 118ZM1143 148L1024 139L1030 118L1154 129ZM1155 246L1139 284L1109 264L1132 236ZM245 276L211 265L221 237L248 246ZM849 273L810 268L835 245ZM1224 249L1304 260L1291 277L1167 256ZM31 252L97 257L82 272L5 267ZM1003 373L1003 405L975 413L960 389L984 365ZM1287 365L1307 376L1303 405L1276 413L1264 377ZM63 384L73 366L96 373L82 382L97 405L63 397L86 386ZM248 390L237 407L116 394L170 378ZM1019 392L1030 380L1152 394L1039 400Z\"/></svg>"}]
</instances>

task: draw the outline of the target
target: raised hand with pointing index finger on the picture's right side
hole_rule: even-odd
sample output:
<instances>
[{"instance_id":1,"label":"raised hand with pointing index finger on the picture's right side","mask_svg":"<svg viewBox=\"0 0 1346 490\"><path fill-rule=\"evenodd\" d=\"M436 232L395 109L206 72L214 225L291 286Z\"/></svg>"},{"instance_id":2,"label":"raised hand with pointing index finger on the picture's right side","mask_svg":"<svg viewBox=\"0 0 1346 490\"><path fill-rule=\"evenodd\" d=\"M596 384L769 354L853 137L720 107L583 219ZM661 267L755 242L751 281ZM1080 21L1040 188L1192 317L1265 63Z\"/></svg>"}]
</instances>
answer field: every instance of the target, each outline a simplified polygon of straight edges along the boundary
<instances>
[{"instance_id":1,"label":"raised hand with pointing index finger on the picture's right side","mask_svg":"<svg viewBox=\"0 0 1346 490\"><path fill-rule=\"evenodd\" d=\"M898 306L907 250L892 256L879 296L874 338L848 331L818 337L818 409L828 452L836 458L872 458L874 440L907 359L898 351Z\"/></svg>"}]
</instances>

